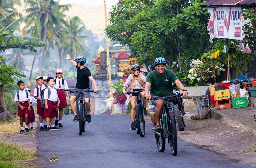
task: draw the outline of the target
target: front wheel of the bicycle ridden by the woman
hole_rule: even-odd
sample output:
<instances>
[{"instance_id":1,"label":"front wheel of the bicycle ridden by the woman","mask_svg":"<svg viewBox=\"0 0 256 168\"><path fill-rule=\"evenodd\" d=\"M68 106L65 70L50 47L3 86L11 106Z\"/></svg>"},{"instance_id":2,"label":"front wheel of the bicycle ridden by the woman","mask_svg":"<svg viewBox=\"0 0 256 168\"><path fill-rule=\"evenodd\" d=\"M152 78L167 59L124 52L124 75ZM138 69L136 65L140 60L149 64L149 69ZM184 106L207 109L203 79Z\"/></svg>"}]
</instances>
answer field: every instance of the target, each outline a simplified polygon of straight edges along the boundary
<instances>
[{"instance_id":1,"label":"front wheel of the bicycle ridden by the woman","mask_svg":"<svg viewBox=\"0 0 256 168\"><path fill-rule=\"evenodd\" d=\"M136 123L138 132L141 137L145 136L145 120L144 120L144 113L141 104L137 104L136 106Z\"/></svg>"}]
</instances>

